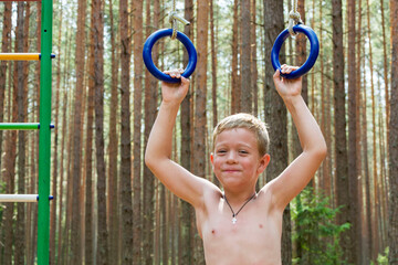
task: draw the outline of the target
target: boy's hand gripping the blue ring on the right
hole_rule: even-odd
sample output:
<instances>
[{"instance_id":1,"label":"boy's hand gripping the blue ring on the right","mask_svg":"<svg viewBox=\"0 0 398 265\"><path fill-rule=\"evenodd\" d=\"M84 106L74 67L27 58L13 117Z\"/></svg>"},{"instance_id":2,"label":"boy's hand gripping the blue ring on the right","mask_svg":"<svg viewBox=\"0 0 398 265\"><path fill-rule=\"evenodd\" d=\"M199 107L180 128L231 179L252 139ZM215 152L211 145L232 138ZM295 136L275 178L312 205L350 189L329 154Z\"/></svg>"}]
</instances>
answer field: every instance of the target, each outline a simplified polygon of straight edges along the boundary
<instances>
[{"instance_id":1,"label":"boy's hand gripping the blue ring on the right","mask_svg":"<svg viewBox=\"0 0 398 265\"><path fill-rule=\"evenodd\" d=\"M297 66L289 66L286 64L281 66L283 74L290 74L292 71L297 68ZM302 77L295 80L283 78L281 77L280 71L276 70L275 74L273 75L273 80L276 91L283 99L301 95Z\"/></svg>"}]
</instances>

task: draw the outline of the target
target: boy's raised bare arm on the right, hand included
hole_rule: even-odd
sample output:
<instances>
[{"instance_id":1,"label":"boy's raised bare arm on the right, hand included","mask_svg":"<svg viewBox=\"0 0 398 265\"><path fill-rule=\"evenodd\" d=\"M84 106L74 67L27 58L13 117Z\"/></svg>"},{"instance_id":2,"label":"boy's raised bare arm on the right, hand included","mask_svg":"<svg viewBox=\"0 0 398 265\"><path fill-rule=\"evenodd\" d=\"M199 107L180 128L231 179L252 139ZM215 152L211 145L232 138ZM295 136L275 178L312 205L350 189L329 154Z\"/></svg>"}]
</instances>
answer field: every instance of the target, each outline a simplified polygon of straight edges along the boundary
<instances>
[{"instance_id":1,"label":"boy's raised bare arm on the right, hand included","mask_svg":"<svg viewBox=\"0 0 398 265\"><path fill-rule=\"evenodd\" d=\"M283 73L296 67L282 66ZM297 129L303 152L279 176L269 183L273 202L284 209L310 182L326 157L327 148L320 126L301 96L302 80L281 78L280 72L274 74L277 93L285 103Z\"/></svg>"}]
</instances>

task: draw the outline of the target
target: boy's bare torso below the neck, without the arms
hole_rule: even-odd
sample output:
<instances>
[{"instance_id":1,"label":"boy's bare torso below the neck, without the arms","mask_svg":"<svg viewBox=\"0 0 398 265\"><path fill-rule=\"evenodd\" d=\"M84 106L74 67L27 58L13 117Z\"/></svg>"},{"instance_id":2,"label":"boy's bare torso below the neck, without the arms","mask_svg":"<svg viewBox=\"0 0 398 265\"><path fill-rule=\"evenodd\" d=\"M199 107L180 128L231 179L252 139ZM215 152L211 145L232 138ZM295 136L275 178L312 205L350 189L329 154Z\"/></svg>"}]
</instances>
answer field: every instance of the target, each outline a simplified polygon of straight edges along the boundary
<instances>
[{"instance_id":1,"label":"boy's bare torso below the neck, without the arms","mask_svg":"<svg viewBox=\"0 0 398 265\"><path fill-rule=\"evenodd\" d=\"M281 264L282 212L272 210L269 192L260 191L235 223L219 192L205 200L205 211L197 211L197 226L207 265Z\"/></svg>"}]
</instances>

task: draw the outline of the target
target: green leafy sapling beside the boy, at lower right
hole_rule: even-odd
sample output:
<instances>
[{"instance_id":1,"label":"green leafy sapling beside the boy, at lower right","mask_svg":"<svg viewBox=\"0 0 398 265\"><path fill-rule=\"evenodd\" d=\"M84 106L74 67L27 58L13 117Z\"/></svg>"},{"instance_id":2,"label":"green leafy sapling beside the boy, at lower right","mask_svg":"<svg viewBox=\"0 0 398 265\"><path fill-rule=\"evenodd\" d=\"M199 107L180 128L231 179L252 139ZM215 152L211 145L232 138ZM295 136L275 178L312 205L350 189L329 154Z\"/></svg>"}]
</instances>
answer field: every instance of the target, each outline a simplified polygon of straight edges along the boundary
<instances>
[{"instance_id":1,"label":"green leafy sapling beside the boy, at lower right","mask_svg":"<svg viewBox=\"0 0 398 265\"><path fill-rule=\"evenodd\" d=\"M291 205L294 221L293 242L297 257L293 264L343 264L339 235L349 229L349 224L337 225L339 209L329 206L329 199L305 189Z\"/></svg>"}]
</instances>

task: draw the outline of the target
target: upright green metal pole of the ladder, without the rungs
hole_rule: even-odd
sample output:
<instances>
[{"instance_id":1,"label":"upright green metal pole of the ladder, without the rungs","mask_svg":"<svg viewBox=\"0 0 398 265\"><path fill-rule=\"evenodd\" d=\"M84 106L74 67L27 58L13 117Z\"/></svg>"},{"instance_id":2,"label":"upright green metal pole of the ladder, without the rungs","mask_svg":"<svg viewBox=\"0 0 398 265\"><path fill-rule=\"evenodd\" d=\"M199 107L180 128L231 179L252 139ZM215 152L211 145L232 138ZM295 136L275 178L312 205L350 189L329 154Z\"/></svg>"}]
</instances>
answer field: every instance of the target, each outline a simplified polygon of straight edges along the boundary
<instances>
[{"instance_id":1,"label":"upright green metal pole of the ladder, without the rungs","mask_svg":"<svg viewBox=\"0 0 398 265\"><path fill-rule=\"evenodd\" d=\"M50 195L51 156L51 51L52 51L52 0L42 0L41 70L40 70L40 132L39 132L39 198ZM50 252L50 201L39 200L38 265L49 265Z\"/></svg>"}]
</instances>

